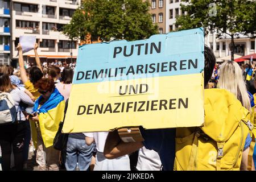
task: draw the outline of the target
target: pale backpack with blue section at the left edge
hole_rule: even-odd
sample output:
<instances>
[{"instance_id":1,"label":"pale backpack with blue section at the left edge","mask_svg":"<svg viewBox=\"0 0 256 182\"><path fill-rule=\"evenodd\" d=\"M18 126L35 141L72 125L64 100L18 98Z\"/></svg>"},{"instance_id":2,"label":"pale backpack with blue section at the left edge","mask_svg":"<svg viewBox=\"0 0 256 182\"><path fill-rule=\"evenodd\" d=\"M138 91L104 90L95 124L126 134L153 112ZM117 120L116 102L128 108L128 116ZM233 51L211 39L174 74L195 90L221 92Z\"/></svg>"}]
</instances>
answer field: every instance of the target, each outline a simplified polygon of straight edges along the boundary
<instances>
[{"instance_id":1,"label":"pale backpack with blue section at the left edge","mask_svg":"<svg viewBox=\"0 0 256 182\"><path fill-rule=\"evenodd\" d=\"M0 92L0 125L16 121L16 107L11 94Z\"/></svg>"}]
</instances>

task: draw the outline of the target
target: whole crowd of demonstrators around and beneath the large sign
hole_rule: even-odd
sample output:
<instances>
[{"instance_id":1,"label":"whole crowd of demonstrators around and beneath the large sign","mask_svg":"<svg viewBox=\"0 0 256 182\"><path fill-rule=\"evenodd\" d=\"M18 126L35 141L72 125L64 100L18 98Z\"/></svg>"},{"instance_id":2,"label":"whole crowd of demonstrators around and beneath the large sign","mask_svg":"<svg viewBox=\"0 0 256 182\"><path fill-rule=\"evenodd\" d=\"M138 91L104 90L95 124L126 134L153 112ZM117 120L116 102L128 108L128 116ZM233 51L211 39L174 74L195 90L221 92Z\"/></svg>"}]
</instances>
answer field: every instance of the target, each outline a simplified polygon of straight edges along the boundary
<instances>
[{"instance_id":1,"label":"whole crowd of demonstrators around and beneath the large sign","mask_svg":"<svg viewBox=\"0 0 256 182\"><path fill-rule=\"evenodd\" d=\"M19 69L0 65L1 104L8 108L11 104L15 106L6 114L2 112L6 112L6 108L0 105L1 165L4 171L26 169L30 146L36 150L39 171L57 171L60 168L67 171L77 168L80 171L211 170L214 166L217 170L254 170L256 152L251 126L254 124L256 102L256 69L251 62L243 65L234 61L216 64L212 50L205 46L205 125L202 127L154 130L139 127L143 142L130 143L123 142L118 130L72 133L68 134L65 149L60 151L54 147L53 140L65 118L76 65L57 60L41 63L37 48L35 44L36 65L25 65L20 44L17 47ZM207 89L209 83L212 83L210 87L217 89ZM9 102L11 104L7 104ZM212 107L214 109L209 109ZM11 113L13 108L15 114ZM213 134L214 122L218 125L215 131L226 137ZM243 128L242 132L237 130L238 127ZM231 140L232 147L228 149ZM195 147L196 155L192 154ZM204 159L208 154L200 153L200 147L209 154L212 150L207 151L207 147L218 152L212 162ZM252 159L250 148L253 148ZM234 150L237 150L236 155L232 153Z\"/></svg>"}]
</instances>

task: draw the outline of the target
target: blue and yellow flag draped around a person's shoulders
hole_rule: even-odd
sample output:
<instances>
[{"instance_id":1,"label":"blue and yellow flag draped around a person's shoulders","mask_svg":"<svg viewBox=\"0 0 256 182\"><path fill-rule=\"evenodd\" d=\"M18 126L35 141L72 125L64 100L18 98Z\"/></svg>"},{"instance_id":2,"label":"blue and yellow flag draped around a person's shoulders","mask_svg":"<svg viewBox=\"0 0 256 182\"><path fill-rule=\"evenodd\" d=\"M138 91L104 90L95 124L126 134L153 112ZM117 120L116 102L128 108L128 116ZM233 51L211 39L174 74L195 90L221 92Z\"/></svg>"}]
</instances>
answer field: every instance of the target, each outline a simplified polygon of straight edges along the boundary
<instances>
[{"instance_id":1,"label":"blue and yellow flag draped around a person's shoulders","mask_svg":"<svg viewBox=\"0 0 256 182\"><path fill-rule=\"evenodd\" d=\"M40 130L44 142L44 146L51 147L53 145L53 139L59 128L60 121L63 121L65 101L64 97L55 88L42 106L39 107L39 101L42 96L36 100L34 105L34 111L38 113Z\"/></svg>"}]
</instances>

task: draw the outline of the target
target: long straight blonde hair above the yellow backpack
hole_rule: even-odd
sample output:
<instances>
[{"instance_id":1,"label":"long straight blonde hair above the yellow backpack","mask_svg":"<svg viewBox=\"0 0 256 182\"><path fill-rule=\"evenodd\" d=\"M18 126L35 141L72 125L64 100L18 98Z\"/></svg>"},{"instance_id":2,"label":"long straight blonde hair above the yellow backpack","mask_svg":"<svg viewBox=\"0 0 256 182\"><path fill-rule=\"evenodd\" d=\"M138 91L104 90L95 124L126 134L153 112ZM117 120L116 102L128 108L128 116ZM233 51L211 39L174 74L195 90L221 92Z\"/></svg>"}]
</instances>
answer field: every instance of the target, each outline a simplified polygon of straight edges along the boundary
<instances>
[{"instance_id":1,"label":"long straight blonde hair above the yellow backpack","mask_svg":"<svg viewBox=\"0 0 256 182\"><path fill-rule=\"evenodd\" d=\"M235 94L242 106L251 111L250 98L243 81L242 69L235 61L226 61L220 68L219 88Z\"/></svg>"}]
</instances>

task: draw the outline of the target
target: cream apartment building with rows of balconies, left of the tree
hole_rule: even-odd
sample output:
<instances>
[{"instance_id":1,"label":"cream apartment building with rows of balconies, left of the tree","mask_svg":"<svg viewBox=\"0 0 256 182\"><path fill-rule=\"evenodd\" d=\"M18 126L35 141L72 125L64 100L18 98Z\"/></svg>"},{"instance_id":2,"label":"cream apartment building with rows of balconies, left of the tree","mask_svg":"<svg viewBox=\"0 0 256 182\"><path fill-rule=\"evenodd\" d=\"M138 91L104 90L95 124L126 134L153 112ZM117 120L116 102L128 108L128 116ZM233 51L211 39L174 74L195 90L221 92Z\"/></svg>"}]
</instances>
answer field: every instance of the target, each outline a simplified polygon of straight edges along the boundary
<instances>
[{"instance_id":1,"label":"cream apartment building with rows of balconies, left of the tree","mask_svg":"<svg viewBox=\"0 0 256 182\"><path fill-rule=\"evenodd\" d=\"M80 0L12 0L10 1L10 57L18 59L16 46L20 36L35 36L41 61L74 61L79 42L69 40L62 32ZM34 51L24 53L24 60L34 61Z\"/></svg>"}]
</instances>

